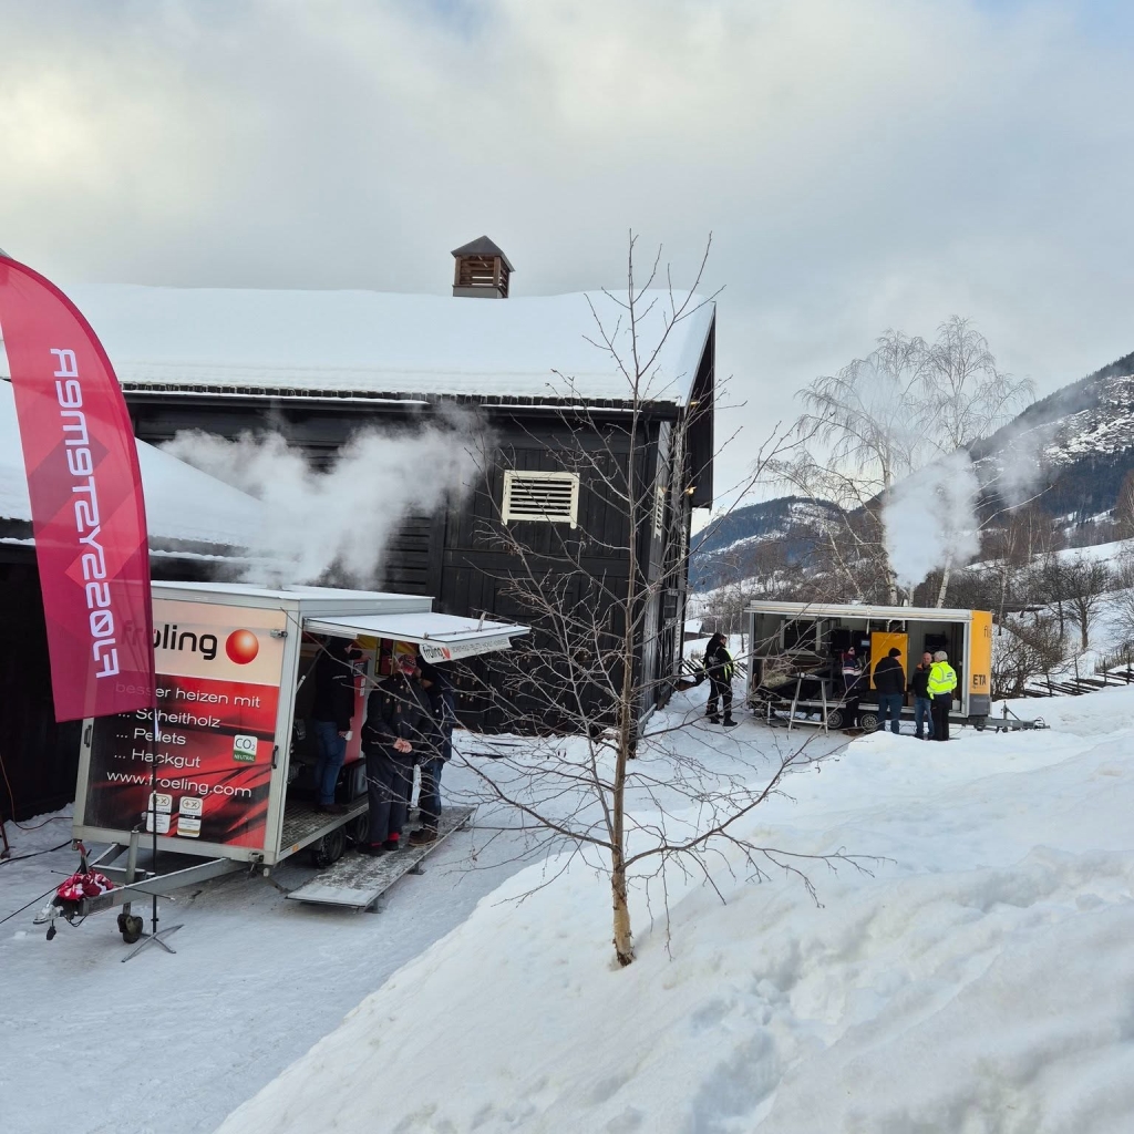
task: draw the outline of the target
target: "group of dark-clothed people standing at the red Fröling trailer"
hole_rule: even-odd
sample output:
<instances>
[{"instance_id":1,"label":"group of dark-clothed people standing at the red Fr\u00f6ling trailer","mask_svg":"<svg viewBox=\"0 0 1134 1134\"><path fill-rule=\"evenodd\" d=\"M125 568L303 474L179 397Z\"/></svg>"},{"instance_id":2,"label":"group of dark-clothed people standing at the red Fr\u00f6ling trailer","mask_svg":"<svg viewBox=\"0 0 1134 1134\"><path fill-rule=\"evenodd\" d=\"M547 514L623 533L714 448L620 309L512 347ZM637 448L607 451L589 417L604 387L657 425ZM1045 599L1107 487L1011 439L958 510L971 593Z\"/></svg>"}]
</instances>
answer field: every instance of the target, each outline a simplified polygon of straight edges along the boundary
<instances>
[{"instance_id":1,"label":"group of dark-clothed people standing at the red Fr\u00f6ling trailer","mask_svg":"<svg viewBox=\"0 0 1134 1134\"><path fill-rule=\"evenodd\" d=\"M346 811L335 802L335 786L354 716L353 661L357 657L345 640L330 638L314 669L312 717L319 746L315 807L331 814ZM366 841L358 844L358 850L367 855L401 847L415 768L421 769L421 827L407 841L424 846L438 838L441 771L452 754L457 714L448 675L411 652L393 654L392 666L393 672L367 696L362 727L370 822Z\"/></svg>"}]
</instances>

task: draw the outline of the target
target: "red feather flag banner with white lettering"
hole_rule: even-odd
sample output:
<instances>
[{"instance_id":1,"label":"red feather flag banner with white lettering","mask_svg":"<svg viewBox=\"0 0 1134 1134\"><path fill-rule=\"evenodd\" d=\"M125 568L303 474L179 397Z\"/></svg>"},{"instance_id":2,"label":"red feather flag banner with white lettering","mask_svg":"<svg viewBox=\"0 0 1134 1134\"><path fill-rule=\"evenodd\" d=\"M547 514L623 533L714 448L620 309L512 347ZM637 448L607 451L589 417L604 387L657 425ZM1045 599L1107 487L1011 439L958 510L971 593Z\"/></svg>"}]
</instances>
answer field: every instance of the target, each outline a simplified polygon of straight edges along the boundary
<instances>
[{"instance_id":1,"label":"red feather flag banner with white lettering","mask_svg":"<svg viewBox=\"0 0 1134 1134\"><path fill-rule=\"evenodd\" d=\"M56 720L154 704L150 550L137 446L102 344L49 280L0 254Z\"/></svg>"}]
</instances>

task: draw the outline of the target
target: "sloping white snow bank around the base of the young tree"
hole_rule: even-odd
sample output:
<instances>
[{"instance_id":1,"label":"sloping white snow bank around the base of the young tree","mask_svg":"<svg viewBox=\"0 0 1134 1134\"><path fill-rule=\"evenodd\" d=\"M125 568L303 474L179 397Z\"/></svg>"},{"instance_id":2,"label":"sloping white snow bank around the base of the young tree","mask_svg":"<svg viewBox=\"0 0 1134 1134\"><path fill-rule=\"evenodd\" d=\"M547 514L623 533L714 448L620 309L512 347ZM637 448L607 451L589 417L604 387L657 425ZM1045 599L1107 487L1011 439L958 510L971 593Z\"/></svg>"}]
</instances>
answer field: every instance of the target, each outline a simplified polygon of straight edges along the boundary
<instances>
[{"instance_id":1,"label":"sloping white snow bank around the base of the young tree","mask_svg":"<svg viewBox=\"0 0 1134 1134\"><path fill-rule=\"evenodd\" d=\"M1134 691L1042 708L793 777L751 837L871 873L671 877L624 971L601 878L517 874L221 1131L1134 1129Z\"/></svg>"}]
</instances>

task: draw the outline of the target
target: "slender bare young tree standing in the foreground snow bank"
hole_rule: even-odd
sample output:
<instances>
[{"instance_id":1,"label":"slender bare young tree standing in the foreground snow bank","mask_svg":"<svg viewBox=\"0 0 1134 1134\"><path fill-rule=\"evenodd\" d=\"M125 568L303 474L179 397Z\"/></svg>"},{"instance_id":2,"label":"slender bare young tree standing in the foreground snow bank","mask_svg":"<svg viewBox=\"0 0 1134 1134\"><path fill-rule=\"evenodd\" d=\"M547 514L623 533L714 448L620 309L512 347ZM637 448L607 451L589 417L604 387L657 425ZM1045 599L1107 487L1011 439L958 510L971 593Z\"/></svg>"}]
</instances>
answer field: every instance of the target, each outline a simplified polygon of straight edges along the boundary
<instances>
[{"instance_id":1,"label":"slender bare young tree standing in the foreground snow bank","mask_svg":"<svg viewBox=\"0 0 1134 1134\"><path fill-rule=\"evenodd\" d=\"M502 726L531 739L481 738L479 746L494 759L468 764L480 790L518 812L540 845L566 847L570 857L582 855L601 866L610 887L619 965L634 959L632 878L643 880L648 895L651 886L660 886L665 900L669 864L713 885L713 873L726 862L722 852L731 848L746 872L761 877L775 866L810 888L803 869L809 856L752 840L743 833L743 820L782 790L790 772L821 759L806 743L773 743L769 759L720 733L701 733L699 739L689 733L704 728L700 710L662 708L672 692L672 668L654 662L659 654L672 655L675 643L667 635L676 633L680 649L683 612L679 607L667 612L666 604L687 570L685 501L704 472L695 466L688 433L712 407L692 406L675 423L668 455L659 457L657 467L643 458L648 431L655 424L650 393L659 356L674 329L704 301L695 294L701 271L688 293L676 294L668 286L654 290L660 260L643 282L634 251L632 237L626 290L610 296L616 323L592 308L594 345L625 379L625 412L617 425L601 426L585 411L565 412L573 441L556 454L562 467L577 471L581 492L623 517L620 534L547 524L539 526L555 530L541 532L536 545L531 525L491 525L511 564L496 579L497 612L522 617L533 634L494 655L484 695L492 699ZM569 390L569 376L564 382ZM748 483L788 443L773 431ZM497 452L494 460L507 463L507 454ZM744 492L734 489L729 496L741 500ZM628 570L598 566L598 548L616 549ZM728 748L727 764L720 759L722 747ZM852 860L836 854L824 861Z\"/></svg>"}]
</instances>

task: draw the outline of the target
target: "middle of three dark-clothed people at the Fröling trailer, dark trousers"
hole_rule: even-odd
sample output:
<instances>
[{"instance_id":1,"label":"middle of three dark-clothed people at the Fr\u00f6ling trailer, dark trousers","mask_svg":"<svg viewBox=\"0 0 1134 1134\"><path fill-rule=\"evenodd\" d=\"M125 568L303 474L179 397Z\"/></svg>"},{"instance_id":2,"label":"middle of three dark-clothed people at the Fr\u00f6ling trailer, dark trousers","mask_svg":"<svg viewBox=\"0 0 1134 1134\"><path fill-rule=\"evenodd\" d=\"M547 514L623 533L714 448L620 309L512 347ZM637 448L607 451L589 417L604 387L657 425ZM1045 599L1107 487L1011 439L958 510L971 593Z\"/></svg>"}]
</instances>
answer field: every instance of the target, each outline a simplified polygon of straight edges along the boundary
<instances>
[{"instance_id":1,"label":"middle of three dark-clothed people at the Fr\u00f6ling trailer, dark trousers","mask_svg":"<svg viewBox=\"0 0 1134 1134\"><path fill-rule=\"evenodd\" d=\"M397 850L409 811L414 764L430 751L429 701L417 680L417 659L397 655L398 672L366 699L362 750L366 756L366 797L370 830L362 854Z\"/></svg>"}]
</instances>

